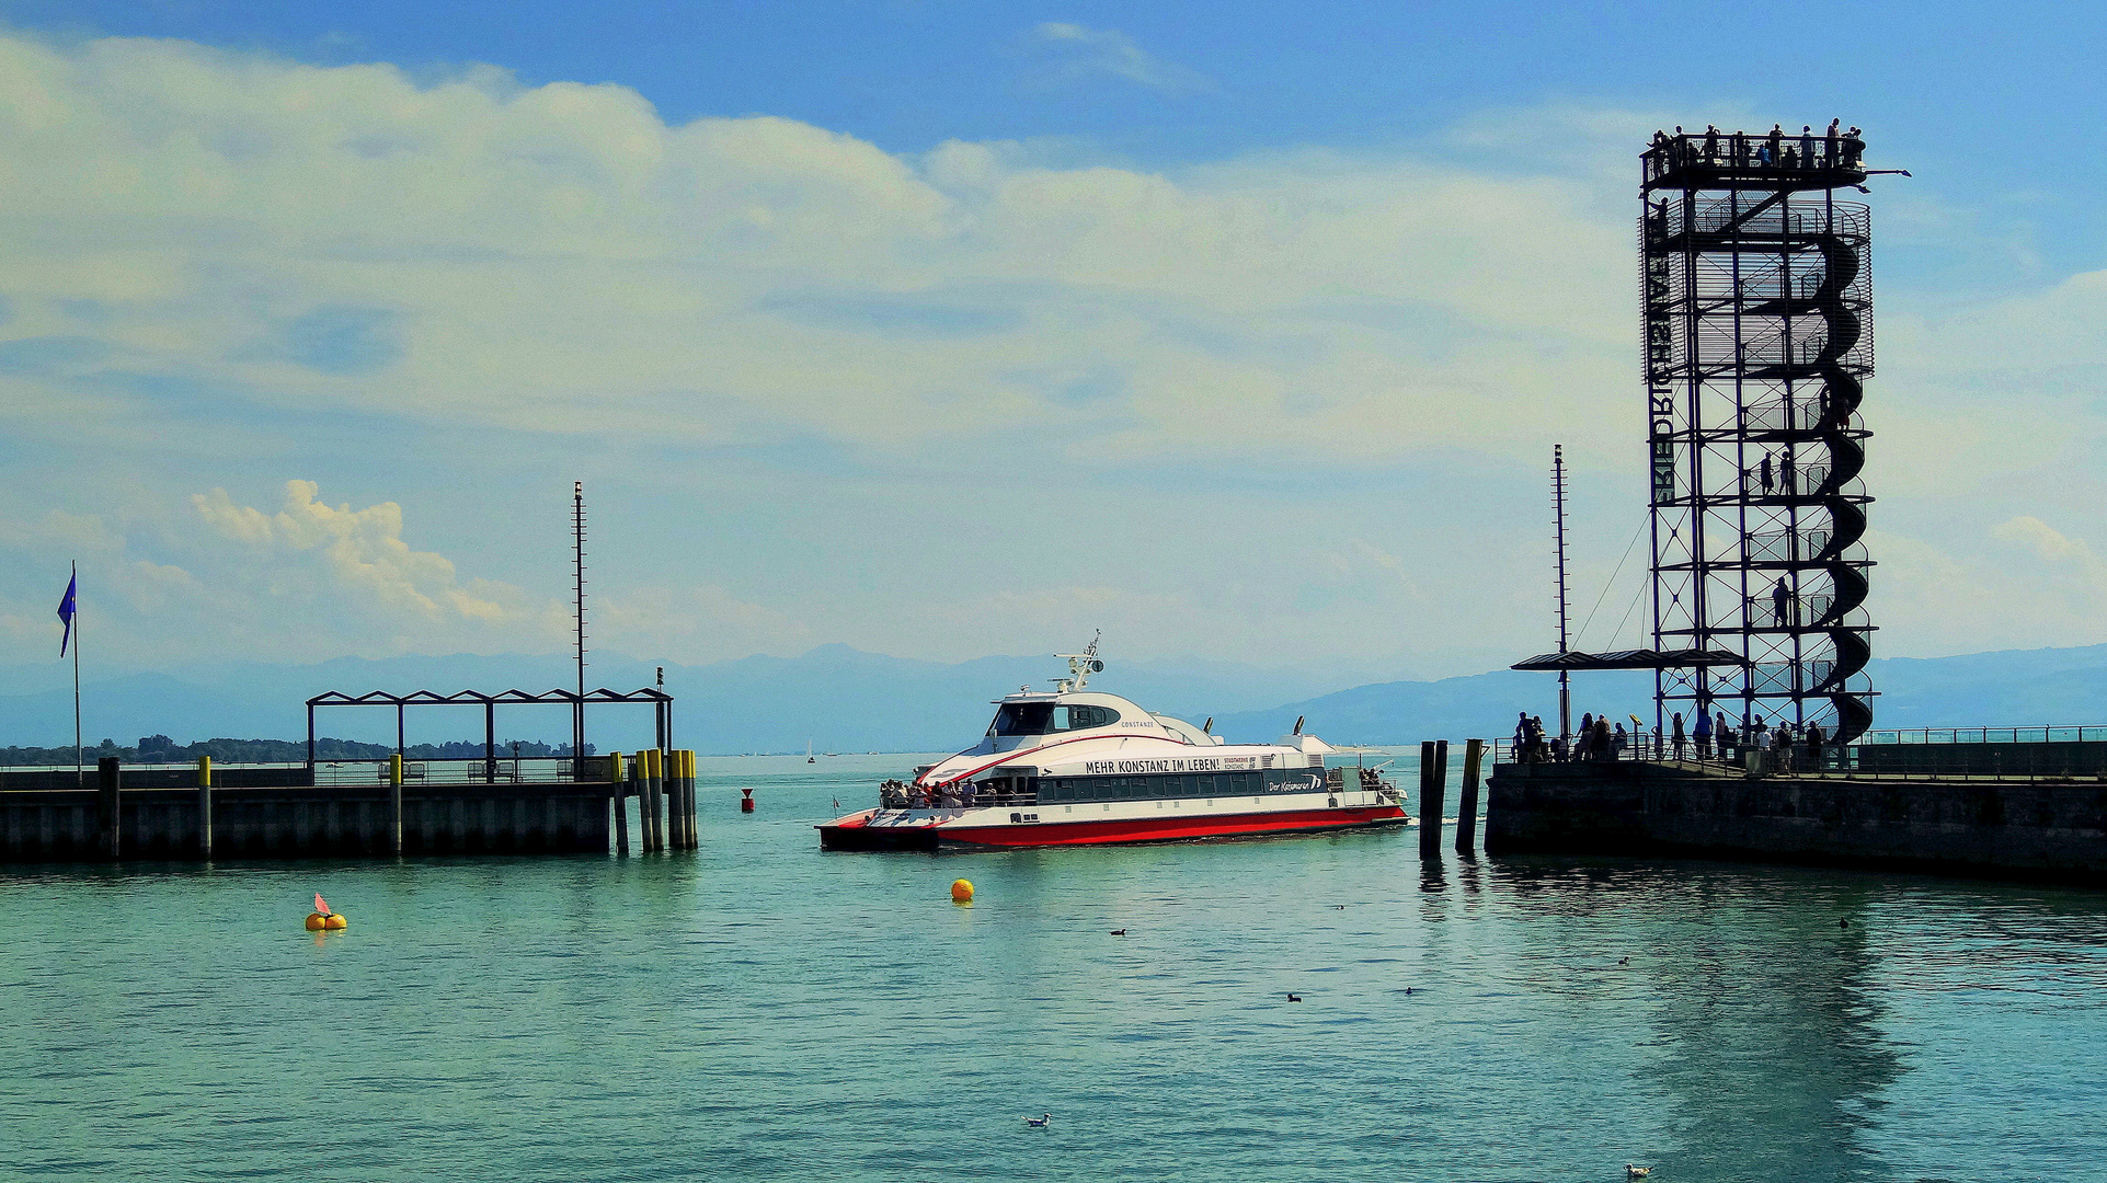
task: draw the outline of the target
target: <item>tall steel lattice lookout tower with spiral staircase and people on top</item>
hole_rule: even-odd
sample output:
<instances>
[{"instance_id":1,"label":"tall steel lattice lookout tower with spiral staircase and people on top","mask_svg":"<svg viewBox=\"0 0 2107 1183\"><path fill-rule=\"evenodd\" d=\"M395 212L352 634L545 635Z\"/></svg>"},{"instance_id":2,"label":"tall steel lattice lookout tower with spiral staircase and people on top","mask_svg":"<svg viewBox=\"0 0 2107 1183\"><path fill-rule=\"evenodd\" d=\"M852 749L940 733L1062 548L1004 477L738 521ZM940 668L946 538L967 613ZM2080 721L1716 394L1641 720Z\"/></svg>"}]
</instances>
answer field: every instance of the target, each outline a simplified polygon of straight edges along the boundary
<instances>
[{"instance_id":1,"label":"tall steel lattice lookout tower with spiral staircase and people on top","mask_svg":"<svg viewBox=\"0 0 2107 1183\"><path fill-rule=\"evenodd\" d=\"M1835 192L1865 192L1863 143L1709 131L1641 160L1654 646L1747 659L1660 669L1658 714L1852 739L1873 720L1873 299L1869 210Z\"/></svg>"}]
</instances>

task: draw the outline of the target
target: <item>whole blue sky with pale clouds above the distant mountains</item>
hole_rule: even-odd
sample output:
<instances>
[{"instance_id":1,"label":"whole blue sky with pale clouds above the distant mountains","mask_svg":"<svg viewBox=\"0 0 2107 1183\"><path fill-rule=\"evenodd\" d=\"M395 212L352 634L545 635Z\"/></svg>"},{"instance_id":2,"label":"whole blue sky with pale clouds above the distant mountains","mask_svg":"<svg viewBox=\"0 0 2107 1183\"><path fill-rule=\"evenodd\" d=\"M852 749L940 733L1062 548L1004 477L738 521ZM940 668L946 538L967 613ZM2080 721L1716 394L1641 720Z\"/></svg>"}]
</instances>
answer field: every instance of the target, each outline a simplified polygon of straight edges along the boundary
<instances>
[{"instance_id":1,"label":"whole blue sky with pale clouds above the distant mountains","mask_svg":"<svg viewBox=\"0 0 2107 1183\"><path fill-rule=\"evenodd\" d=\"M1867 128L1875 653L2107 640L2075 4L0 0L0 671L1641 644L1656 126ZM2094 545L2099 537L2099 545Z\"/></svg>"}]
</instances>

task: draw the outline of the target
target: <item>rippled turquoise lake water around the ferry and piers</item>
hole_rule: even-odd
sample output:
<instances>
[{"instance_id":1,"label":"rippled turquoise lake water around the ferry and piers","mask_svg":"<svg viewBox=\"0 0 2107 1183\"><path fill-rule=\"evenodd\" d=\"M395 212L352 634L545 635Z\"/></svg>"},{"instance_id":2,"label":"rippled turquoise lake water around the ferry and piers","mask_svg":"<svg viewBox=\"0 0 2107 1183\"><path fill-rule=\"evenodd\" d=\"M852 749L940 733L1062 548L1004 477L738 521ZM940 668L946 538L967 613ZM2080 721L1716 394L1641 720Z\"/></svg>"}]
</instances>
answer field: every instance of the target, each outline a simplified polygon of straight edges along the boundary
<instances>
[{"instance_id":1,"label":"rippled turquoise lake water around the ferry and piers","mask_svg":"<svg viewBox=\"0 0 2107 1183\"><path fill-rule=\"evenodd\" d=\"M706 760L668 857L0 871L0 1179L2107 1179L2103 893L822 855L904 764Z\"/></svg>"}]
</instances>

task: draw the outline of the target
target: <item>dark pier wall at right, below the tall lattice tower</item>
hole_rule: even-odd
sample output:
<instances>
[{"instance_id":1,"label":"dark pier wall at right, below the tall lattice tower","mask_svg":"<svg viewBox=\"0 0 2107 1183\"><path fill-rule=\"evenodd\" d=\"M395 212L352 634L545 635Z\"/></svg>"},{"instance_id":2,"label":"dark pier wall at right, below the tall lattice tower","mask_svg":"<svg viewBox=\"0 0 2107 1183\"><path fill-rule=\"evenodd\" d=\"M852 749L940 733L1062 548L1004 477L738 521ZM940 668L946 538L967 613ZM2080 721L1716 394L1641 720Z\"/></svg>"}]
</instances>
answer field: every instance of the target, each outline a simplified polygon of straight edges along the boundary
<instances>
[{"instance_id":1,"label":"dark pier wall at right, below the tall lattice tower","mask_svg":"<svg viewBox=\"0 0 2107 1183\"><path fill-rule=\"evenodd\" d=\"M2107 884L2107 781L1498 764L1488 855L1683 855Z\"/></svg>"}]
</instances>

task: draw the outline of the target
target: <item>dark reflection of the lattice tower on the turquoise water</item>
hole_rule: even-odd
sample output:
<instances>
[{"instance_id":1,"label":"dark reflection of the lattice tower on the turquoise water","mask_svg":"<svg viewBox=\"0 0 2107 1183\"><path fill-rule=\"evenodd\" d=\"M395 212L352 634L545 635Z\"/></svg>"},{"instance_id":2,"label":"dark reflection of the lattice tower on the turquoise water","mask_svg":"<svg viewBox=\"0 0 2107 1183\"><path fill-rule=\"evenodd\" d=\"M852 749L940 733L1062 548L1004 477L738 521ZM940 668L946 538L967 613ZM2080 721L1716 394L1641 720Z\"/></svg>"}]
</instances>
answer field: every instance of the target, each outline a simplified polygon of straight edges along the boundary
<instances>
[{"instance_id":1,"label":"dark reflection of the lattice tower on the turquoise water","mask_svg":"<svg viewBox=\"0 0 2107 1183\"><path fill-rule=\"evenodd\" d=\"M1599 968L1601 989L1629 981L1652 998L1635 1084L1665 1105L1662 1175L1892 1177L1863 1139L1903 1074L1873 991L1865 888L1707 865L1502 861L1494 876L1580 933L1612 918L1627 939L1643 933L1646 945L1610 949L1576 945L1568 926L1544 939Z\"/></svg>"}]
</instances>

